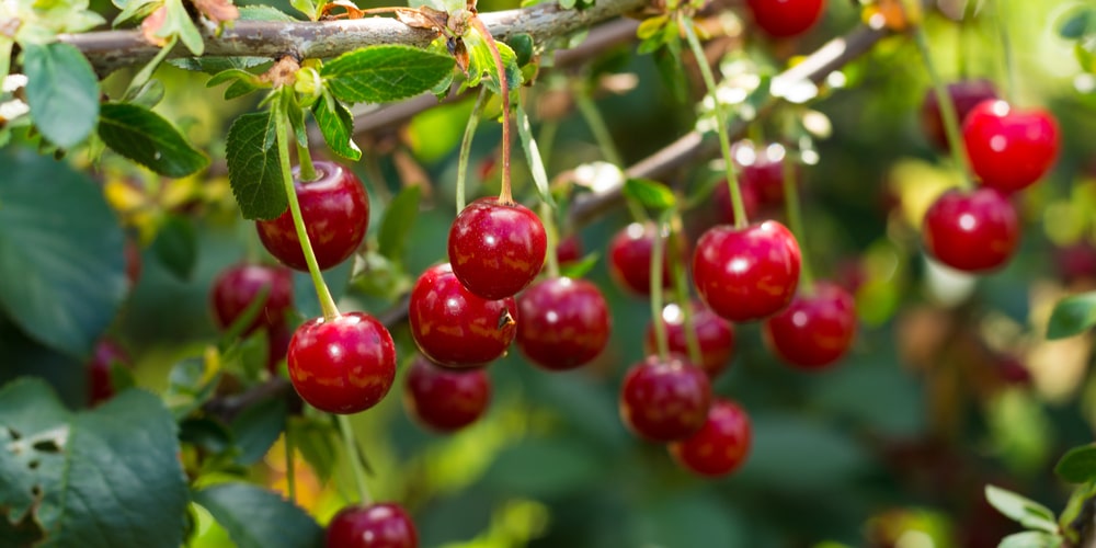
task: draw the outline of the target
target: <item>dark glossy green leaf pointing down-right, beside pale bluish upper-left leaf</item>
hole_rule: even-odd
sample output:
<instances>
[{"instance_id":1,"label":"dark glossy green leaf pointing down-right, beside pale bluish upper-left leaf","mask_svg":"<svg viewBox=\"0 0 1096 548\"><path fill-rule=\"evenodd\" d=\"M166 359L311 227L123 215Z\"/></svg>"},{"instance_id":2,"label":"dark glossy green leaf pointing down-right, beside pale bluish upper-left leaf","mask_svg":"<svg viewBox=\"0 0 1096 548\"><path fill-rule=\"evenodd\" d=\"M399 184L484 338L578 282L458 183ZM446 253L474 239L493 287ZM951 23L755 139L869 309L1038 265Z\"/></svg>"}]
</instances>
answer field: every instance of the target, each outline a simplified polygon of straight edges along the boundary
<instances>
[{"instance_id":1,"label":"dark glossy green leaf pointing down-right, beside pale bluish upper-left leaf","mask_svg":"<svg viewBox=\"0 0 1096 548\"><path fill-rule=\"evenodd\" d=\"M209 164L170 122L130 103L106 103L99 136L115 152L167 176L186 176Z\"/></svg>"}]
</instances>

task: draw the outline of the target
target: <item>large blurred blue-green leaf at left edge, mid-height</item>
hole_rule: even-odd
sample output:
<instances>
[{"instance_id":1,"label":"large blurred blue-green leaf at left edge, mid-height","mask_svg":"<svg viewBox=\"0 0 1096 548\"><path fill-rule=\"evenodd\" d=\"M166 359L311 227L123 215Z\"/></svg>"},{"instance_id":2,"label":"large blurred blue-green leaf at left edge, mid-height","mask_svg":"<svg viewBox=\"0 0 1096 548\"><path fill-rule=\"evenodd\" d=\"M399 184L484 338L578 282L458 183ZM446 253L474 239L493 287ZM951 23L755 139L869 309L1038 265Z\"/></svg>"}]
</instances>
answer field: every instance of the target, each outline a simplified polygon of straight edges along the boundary
<instances>
[{"instance_id":1,"label":"large blurred blue-green leaf at left edge, mid-height","mask_svg":"<svg viewBox=\"0 0 1096 548\"><path fill-rule=\"evenodd\" d=\"M0 150L0 308L82 358L128 292L122 227L94 182L30 150Z\"/></svg>"}]
</instances>

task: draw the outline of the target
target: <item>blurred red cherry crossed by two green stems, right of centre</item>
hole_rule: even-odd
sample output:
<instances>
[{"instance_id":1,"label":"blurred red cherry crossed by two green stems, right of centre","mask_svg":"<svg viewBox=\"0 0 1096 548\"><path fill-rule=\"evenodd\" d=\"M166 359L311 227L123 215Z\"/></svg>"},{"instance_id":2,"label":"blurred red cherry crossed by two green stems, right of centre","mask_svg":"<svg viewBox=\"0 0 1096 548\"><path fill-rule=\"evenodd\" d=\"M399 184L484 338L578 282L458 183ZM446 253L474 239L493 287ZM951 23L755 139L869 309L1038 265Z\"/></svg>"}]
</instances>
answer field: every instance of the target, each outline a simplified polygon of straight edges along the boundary
<instances>
[{"instance_id":1,"label":"blurred red cherry crossed by two green stems, right of centre","mask_svg":"<svg viewBox=\"0 0 1096 548\"><path fill-rule=\"evenodd\" d=\"M716 316L716 312L709 310L703 302L694 302L692 307L693 327L700 346L700 363L697 365L708 374L708 378L713 379L727 369L731 362L731 355L734 354L734 326ZM677 305L666 306L662 310L662 319L666 324L670 352L687 356L685 315L682 313L681 307ZM647 326L647 333L643 336L643 349L648 354L658 352L654 336L654 323L651 322Z\"/></svg>"}]
</instances>

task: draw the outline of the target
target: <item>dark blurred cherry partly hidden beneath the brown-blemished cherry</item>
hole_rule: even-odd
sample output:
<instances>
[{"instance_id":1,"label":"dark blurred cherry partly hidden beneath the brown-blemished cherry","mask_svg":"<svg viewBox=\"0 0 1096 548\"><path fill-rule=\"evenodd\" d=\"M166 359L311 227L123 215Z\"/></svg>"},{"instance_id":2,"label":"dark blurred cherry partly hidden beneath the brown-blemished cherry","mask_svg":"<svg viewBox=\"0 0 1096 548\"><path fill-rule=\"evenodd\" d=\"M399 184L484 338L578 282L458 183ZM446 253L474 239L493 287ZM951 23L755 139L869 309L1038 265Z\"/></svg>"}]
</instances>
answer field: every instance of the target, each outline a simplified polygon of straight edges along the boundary
<instances>
[{"instance_id":1,"label":"dark blurred cherry partly hidden beneath the brown-blemished cherry","mask_svg":"<svg viewBox=\"0 0 1096 548\"><path fill-rule=\"evenodd\" d=\"M411 362L403 408L420 424L454 432L479 419L491 402L487 369L446 369L419 355Z\"/></svg>"}]
</instances>

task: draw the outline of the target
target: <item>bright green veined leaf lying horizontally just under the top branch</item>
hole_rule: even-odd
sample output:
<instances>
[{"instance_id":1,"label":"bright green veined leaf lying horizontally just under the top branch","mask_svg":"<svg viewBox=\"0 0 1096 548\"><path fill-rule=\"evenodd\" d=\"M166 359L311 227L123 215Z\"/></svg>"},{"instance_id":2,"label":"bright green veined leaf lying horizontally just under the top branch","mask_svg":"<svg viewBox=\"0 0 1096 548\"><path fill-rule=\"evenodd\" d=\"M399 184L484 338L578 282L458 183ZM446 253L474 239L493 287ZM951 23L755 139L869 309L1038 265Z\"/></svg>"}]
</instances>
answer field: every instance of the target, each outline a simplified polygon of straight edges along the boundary
<instances>
[{"instance_id":1,"label":"bright green veined leaf lying horizontally just under the top branch","mask_svg":"<svg viewBox=\"0 0 1096 548\"><path fill-rule=\"evenodd\" d=\"M372 46L332 59L320 76L341 101L384 103L430 90L453 65L452 57L410 46Z\"/></svg>"}]
</instances>

